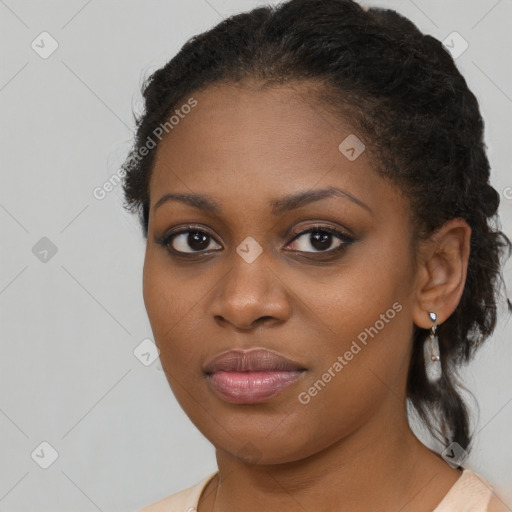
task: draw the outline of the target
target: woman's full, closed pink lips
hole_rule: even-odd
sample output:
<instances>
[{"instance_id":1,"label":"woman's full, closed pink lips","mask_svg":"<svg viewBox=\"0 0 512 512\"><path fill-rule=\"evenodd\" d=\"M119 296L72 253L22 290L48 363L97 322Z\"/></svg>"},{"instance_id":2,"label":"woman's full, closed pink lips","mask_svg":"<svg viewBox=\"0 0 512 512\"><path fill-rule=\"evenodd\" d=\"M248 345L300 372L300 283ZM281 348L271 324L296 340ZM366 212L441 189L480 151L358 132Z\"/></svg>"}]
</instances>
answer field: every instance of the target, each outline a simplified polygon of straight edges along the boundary
<instances>
[{"instance_id":1,"label":"woman's full, closed pink lips","mask_svg":"<svg viewBox=\"0 0 512 512\"><path fill-rule=\"evenodd\" d=\"M300 379L304 370L267 349L230 350L204 367L213 391L236 404L267 400Z\"/></svg>"}]
</instances>

